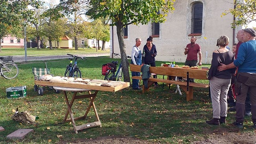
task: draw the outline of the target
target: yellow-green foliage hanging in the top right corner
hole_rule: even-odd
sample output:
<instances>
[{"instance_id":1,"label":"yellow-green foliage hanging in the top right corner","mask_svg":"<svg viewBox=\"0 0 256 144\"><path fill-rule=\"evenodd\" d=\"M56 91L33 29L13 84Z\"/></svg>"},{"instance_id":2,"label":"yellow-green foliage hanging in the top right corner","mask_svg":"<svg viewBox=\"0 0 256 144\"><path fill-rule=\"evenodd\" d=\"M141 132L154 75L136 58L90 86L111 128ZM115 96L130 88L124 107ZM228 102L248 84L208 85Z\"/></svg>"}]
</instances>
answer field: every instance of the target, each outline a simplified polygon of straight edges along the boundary
<instances>
[{"instance_id":1,"label":"yellow-green foliage hanging in the top right corner","mask_svg":"<svg viewBox=\"0 0 256 144\"><path fill-rule=\"evenodd\" d=\"M234 4L234 8L222 13L222 16L231 13L236 17L232 23L232 28L236 28L236 25L246 25L256 21L256 0L234 0Z\"/></svg>"}]
</instances>

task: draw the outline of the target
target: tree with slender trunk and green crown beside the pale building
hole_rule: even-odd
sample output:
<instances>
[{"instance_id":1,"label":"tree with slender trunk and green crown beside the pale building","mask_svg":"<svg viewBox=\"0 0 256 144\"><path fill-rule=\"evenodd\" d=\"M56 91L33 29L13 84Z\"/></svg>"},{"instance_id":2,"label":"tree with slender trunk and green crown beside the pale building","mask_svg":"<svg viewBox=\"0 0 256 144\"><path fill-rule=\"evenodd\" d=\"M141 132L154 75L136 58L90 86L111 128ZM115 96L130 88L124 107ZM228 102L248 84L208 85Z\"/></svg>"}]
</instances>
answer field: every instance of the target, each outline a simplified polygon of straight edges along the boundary
<instances>
[{"instance_id":1,"label":"tree with slender trunk and green crown beside the pale building","mask_svg":"<svg viewBox=\"0 0 256 144\"><path fill-rule=\"evenodd\" d=\"M129 24L163 23L175 0L90 0L87 15L93 19L109 17L116 26L124 81L130 82L128 60L125 53L123 27ZM158 14L160 12L160 14Z\"/></svg>"}]
</instances>

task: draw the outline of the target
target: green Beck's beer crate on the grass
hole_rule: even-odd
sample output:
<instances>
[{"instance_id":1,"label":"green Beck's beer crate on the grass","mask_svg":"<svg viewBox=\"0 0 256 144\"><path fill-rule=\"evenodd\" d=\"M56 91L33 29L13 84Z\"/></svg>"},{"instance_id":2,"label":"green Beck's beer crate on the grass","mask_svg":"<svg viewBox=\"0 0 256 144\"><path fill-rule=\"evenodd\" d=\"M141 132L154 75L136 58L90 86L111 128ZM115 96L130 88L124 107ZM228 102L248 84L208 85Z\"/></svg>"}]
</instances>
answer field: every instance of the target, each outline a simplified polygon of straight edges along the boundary
<instances>
[{"instance_id":1,"label":"green Beck's beer crate on the grass","mask_svg":"<svg viewBox=\"0 0 256 144\"><path fill-rule=\"evenodd\" d=\"M6 88L8 99L23 98L27 96L26 86Z\"/></svg>"}]
</instances>

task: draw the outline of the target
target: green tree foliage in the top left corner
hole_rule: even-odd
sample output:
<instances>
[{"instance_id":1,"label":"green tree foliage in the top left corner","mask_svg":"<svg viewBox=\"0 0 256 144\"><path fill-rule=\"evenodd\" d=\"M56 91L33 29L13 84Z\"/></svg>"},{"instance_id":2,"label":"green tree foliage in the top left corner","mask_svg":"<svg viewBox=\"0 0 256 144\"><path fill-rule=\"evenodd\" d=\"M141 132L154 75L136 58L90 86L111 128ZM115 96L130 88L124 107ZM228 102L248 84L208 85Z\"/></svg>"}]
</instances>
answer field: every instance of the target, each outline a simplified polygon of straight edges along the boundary
<instances>
[{"instance_id":1,"label":"green tree foliage in the top left corner","mask_svg":"<svg viewBox=\"0 0 256 144\"><path fill-rule=\"evenodd\" d=\"M10 28L34 21L34 11L28 6L38 8L41 4L40 0L0 0L0 38L5 37Z\"/></svg>"}]
</instances>

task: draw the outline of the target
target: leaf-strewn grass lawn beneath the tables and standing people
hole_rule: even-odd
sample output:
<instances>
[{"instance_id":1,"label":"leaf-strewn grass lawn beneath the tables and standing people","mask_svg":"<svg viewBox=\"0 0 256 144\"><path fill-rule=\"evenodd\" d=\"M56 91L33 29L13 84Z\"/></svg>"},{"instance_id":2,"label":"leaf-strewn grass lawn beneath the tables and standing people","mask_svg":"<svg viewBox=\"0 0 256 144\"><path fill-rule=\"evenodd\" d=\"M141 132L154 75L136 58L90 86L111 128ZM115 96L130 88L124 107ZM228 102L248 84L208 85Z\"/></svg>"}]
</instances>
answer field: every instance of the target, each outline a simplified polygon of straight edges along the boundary
<instances>
[{"instance_id":1,"label":"leaf-strewn grass lawn beneath the tables and standing people","mask_svg":"<svg viewBox=\"0 0 256 144\"><path fill-rule=\"evenodd\" d=\"M52 51L54 52L54 50ZM67 52L64 52L67 53ZM78 66L83 78L104 79L101 75L102 64L112 59L108 57L88 57L79 60ZM69 60L48 60L48 68L54 76L63 76ZM162 62L156 62L156 65ZM187 102L185 93L180 96L174 93L176 86L170 89L164 84L151 88L150 92L134 91L126 88L118 92L99 92L95 104L102 123L102 128L93 127L74 133L71 123L61 124L66 113L63 93L44 90L43 96L38 96L33 90L34 76L32 67L44 68L42 61L18 64L20 73L13 80L0 77L0 126L5 131L0 132L0 144L20 143L58 143L61 141L75 142L79 139L94 139L103 136L128 136L149 140L161 144L190 144L193 141L207 138L217 133L220 128L234 129L230 126L234 120L234 112L228 112L228 124L212 126L205 120L212 118L212 104L208 96L208 88L195 88L194 99ZM183 65L182 63L178 63ZM204 65L208 66L209 65ZM160 76L159 76L160 77ZM208 83L208 80L197 82ZM27 86L28 95L22 99L7 99L6 88ZM159 84L162 85L162 84ZM69 95L72 95L70 92ZM88 105L87 99L75 100L72 111L74 116L83 115ZM20 112L28 111L34 116L38 126L20 124L11 119L12 109L19 108ZM94 122L95 116L91 110L85 120L76 121L77 125ZM249 117L244 122L241 133L253 133ZM6 136L19 128L32 128L34 132L23 140L10 140ZM58 138L57 135L62 135Z\"/></svg>"}]
</instances>

